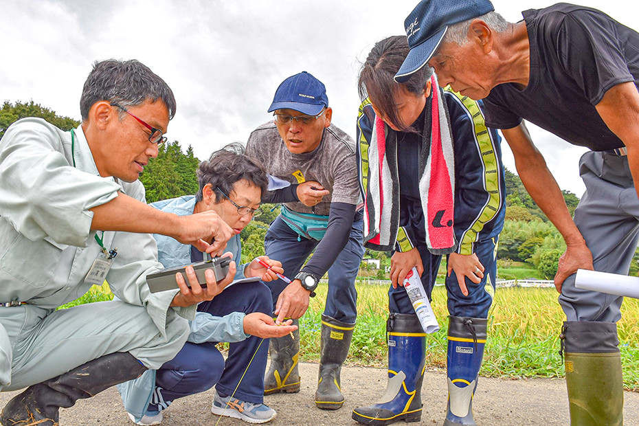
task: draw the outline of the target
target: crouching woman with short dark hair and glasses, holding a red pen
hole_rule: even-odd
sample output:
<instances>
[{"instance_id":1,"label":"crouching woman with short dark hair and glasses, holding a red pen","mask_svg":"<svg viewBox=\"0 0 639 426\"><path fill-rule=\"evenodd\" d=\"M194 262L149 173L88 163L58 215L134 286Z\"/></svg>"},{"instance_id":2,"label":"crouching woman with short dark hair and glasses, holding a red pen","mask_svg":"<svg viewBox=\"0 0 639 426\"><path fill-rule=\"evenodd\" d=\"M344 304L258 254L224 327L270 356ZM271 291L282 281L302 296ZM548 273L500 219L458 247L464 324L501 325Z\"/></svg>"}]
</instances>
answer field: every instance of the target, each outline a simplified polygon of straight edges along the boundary
<instances>
[{"instance_id":1,"label":"crouching woman with short dark hair and glasses, holding a red pen","mask_svg":"<svg viewBox=\"0 0 639 426\"><path fill-rule=\"evenodd\" d=\"M239 265L235 279L256 277L267 282L276 279L275 272L284 270L280 262L267 256L260 256L260 260L269 269L257 260L240 265L239 234L253 216L261 214L260 199L269 183L262 166L244 155L240 144L231 144L200 164L198 180L196 195L151 205L179 216L216 212L236 234L227 243L227 251ZM203 254L190 245L157 234L154 237L158 260L166 268L203 260ZM138 425L157 425L162 410L173 400L203 392L213 385L214 414L249 423L266 423L275 418L275 410L263 403L269 344L262 338L282 337L296 327L276 326L271 310L271 292L260 281L232 285L210 302L199 304L188 341L177 356L159 370L119 386L131 420ZM231 343L226 362L215 347L218 341Z\"/></svg>"}]
</instances>

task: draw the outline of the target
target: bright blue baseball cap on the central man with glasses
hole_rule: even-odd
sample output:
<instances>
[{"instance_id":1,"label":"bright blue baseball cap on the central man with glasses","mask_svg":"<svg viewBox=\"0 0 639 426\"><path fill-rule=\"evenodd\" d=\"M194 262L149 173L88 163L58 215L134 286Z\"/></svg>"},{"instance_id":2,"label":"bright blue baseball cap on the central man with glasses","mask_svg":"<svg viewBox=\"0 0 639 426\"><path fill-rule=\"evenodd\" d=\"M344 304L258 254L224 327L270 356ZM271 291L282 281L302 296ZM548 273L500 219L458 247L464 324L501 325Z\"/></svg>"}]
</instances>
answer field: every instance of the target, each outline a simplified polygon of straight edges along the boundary
<instances>
[{"instance_id":1,"label":"bright blue baseball cap on the central man with glasses","mask_svg":"<svg viewBox=\"0 0 639 426\"><path fill-rule=\"evenodd\" d=\"M307 115L317 115L328 106L324 83L306 71L284 80L273 96L269 113L276 109L294 109Z\"/></svg>"}]
</instances>

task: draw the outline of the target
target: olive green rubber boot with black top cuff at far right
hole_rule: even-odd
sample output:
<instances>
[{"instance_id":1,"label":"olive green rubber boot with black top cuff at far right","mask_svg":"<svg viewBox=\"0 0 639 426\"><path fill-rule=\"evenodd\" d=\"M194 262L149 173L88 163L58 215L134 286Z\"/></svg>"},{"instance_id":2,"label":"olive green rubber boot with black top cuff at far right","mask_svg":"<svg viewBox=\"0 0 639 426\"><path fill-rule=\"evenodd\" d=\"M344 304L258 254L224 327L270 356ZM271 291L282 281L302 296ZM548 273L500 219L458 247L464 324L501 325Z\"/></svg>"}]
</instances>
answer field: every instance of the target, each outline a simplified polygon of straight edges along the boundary
<instances>
[{"instance_id":1,"label":"olive green rubber boot with black top cuff at far right","mask_svg":"<svg viewBox=\"0 0 639 426\"><path fill-rule=\"evenodd\" d=\"M617 324L567 321L561 333L572 426L623 425Z\"/></svg>"}]
</instances>

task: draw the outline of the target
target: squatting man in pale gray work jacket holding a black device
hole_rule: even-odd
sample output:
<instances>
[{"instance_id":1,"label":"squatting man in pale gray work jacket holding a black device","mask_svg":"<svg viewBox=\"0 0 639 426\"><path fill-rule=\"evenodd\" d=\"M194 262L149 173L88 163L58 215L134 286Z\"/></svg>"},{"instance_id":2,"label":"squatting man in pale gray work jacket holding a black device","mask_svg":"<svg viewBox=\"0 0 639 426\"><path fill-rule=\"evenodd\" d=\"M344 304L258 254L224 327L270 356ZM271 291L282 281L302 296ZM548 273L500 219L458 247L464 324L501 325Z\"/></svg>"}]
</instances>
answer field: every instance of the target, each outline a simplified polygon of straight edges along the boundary
<instances>
[{"instance_id":1,"label":"squatting man in pale gray work jacket holding a black device","mask_svg":"<svg viewBox=\"0 0 639 426\"><path fill-rule=\"evenodd\" d=\"M27 390L2 425L57 425L70 407L111 385L159 368L188 335L195 305L235 274L207 287L150 293L161 269L151 233L220 254L232 230L217 214L176 216L146 205L137 180L175 114L171 89L141 63L96 63L70 132L26 118L0 141L0 389ZM212 240L214 244L210 244ZM117 254L117 257L116 257ZM56 308L109 281L120 300Z\"/></svg>"}]
</instances>

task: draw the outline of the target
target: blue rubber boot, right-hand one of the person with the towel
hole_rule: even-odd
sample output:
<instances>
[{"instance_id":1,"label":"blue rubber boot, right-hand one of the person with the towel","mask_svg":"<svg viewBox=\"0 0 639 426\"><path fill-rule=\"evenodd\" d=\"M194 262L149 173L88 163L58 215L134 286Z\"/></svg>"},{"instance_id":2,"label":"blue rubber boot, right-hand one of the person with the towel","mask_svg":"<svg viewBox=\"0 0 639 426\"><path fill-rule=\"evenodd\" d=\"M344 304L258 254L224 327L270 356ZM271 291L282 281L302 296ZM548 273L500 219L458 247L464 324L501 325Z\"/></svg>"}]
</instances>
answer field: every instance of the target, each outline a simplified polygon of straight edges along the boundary
<instances>
[{"instance_id":1,"label":"blue rubber boot, right-hand one of the person with the towel","mask_svg":"<svg viewBox=\"0 0 639 426\"><path fill-rule=\"evenodd\" d=\"M449 317L448 410L444 426L475 425L473 396L486 346L483 318Z\"/></svg>"}]
</instances>

